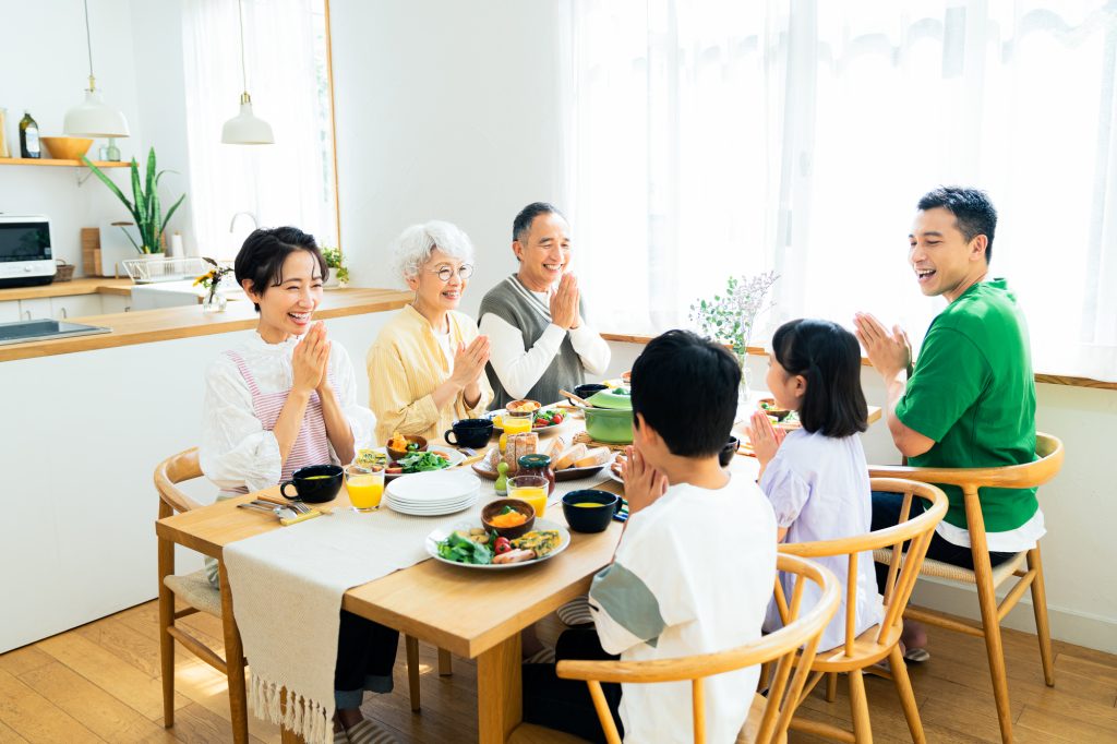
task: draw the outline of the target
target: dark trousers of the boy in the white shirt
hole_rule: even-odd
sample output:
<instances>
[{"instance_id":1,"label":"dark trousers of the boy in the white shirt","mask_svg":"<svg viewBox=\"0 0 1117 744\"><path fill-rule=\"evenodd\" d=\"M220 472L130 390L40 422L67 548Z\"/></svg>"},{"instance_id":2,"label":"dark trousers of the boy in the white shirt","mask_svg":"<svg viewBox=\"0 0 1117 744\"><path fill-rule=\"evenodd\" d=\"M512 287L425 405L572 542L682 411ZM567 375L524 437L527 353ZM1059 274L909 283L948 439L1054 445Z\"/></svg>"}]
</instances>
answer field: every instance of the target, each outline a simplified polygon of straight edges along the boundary
<instances>
[{"instance_id":1,"label":"dark trousers of the boy in the white shirt","mask_svg":"<svg viewBox=\"0 0 1117 744\"><path fill-rule=\"evenodd\" d=\"M620 657L607 654L601 648L598 632L592 628L566 630L555 643L555 660L614 660ZM590 697L589 686L580 679L560 679L554 664L525 664L524 669L524 721L556 731L564 731L591 742L604 742L605 734L598 721L598 713ZM601 686L613 714L613 722L621 736L624 728L618 713L621 704L621 686L605 683Z\"/></svg>"}]
</instances>

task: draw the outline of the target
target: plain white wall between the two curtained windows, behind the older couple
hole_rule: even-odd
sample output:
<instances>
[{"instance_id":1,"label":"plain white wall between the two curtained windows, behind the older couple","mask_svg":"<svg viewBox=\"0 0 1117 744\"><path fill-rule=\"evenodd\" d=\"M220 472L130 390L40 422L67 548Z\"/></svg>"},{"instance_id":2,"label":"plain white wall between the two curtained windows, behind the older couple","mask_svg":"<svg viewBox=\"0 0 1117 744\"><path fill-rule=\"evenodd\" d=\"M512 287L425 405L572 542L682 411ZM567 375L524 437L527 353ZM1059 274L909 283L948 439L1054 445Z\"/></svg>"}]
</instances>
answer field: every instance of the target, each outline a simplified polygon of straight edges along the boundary
<instances>
[{"instance_id":1,"label":"plain white wall between the two curtained windows, behind the older couple","mask_svg":"<svg viewBox=\"0 0 1117 744\"><path fill-rule=\"evenodd\" d=\"M512 220L562 199L561 0L332 0L342 245L388 286L388 246L429 219L478 249L465 309L515 270Z\"/></svg>"}]
</instances>

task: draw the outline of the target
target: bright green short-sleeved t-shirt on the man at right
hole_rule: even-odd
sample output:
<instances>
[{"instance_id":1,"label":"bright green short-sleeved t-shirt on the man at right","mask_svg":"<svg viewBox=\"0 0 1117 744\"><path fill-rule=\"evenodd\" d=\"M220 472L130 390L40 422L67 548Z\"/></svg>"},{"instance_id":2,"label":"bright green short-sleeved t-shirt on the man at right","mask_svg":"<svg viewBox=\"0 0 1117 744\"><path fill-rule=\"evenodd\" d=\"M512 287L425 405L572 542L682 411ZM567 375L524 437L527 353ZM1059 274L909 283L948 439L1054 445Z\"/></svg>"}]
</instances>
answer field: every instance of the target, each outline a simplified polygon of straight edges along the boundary
<instances>
[{"instance_id":1,"label":"bright green short-sleeved t-shirt on the man at right","mask_svg":"<svg viewBox=\"0 0 1117 744\"><path fill-rule=\"evenodd\" d=\"M1028 325L1004 279L975 284L932 321L896 417L935 440L916 467L975 468L1035 459L1035 379ZM962 489L946 521L966 527ZM1035 514L1034 488L982 488L985 530L1015 530Z\"/></svg>"}]
</instances>

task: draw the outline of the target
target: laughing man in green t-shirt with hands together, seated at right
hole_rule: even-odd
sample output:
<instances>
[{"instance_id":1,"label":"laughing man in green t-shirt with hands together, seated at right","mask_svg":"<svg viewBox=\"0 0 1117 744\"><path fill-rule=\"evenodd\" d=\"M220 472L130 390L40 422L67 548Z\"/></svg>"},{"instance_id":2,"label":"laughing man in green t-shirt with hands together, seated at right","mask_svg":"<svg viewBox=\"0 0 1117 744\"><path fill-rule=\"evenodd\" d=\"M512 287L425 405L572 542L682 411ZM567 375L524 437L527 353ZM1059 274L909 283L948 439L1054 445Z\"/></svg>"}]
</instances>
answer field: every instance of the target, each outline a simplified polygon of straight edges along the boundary
<instances>
[{"instance_id":1,"label":"laughing man in green t-shirt with hands together, seated at right","mask_svg":"<svg viewBox=\"0 0 1117 744\"><path fill-rule=\"evenodd\" d=\"M982 191L945 187L919 200L908 263L923 294L941 295L948 305L927 328L910 378L904 332L889 332L865 313L855 318L858 340L885 380L888 429L909 465L1001 467L1034 459L1028 325L1004 279L989 277L995 229L996 211ZM941 487L949 509L927 557L973 569L962 489ZM873 530L896 524L901 498L873 494ZM1044 534L1034 488L983 488L980 499L993 565ZM878 574L882 584L884 572ZM915 623L905 627L904 642L910 658L927 658L926 633Z\"/></svg>"}]
</instances>

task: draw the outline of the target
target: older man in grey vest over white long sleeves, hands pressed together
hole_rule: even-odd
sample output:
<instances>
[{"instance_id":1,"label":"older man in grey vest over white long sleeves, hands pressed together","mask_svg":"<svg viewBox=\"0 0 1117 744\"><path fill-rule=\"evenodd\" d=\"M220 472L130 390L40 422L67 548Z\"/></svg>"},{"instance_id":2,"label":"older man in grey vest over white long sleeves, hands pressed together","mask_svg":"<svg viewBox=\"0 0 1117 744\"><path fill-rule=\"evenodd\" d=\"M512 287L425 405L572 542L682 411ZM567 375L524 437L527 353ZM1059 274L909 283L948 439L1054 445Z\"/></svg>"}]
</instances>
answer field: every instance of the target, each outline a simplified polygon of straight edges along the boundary
<instances>
[{"instance_id":1,"label":"older man in grey vest over white long sleeves, hands pressed together","mask_svg":"<svg viewBox=\"0 0 1117 744\"><path fill-rule=\"evenodd\" d=\"M480 333L491 343L485 371L496 392L493 409L523 398L550 403L585 382L586 371L604 374L609 365L609 345L583 317L566 218L552 204L528 204L512 238L519 270L480 306Z\"/></svg>"}]
</instances>

